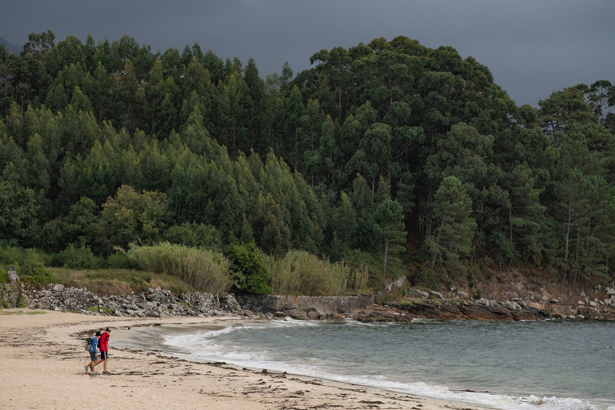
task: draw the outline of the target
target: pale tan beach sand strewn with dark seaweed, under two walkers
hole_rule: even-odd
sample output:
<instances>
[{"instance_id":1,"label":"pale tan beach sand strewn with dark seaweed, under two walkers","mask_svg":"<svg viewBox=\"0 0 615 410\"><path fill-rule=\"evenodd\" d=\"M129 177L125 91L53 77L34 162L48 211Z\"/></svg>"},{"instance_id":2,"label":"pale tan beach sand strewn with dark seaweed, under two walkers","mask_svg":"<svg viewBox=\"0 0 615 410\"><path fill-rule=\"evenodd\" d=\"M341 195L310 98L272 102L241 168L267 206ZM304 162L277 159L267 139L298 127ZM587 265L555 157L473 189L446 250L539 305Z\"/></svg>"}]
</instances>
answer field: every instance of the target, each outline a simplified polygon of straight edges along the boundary
<instances>
[{"instance_id":1,"label":"pale tan beach sand strewn with dark seaweed, under two walkers","mask_svg":"<svg viewBox=\"0 0 615 410\"><path fill-rule=\"evenodd\" d=\"M17 314L17 312L24 312ZM45 314L27 315L31 312ZM140 319L2 310L0 409L482 409L309 377L117 350L111 374L85 374L85 333L106 326L220 323L237 318ZM103 370L102 364L97 371ZM291 380L292 379L292 380Z\"/></svg>"}]
</instances>

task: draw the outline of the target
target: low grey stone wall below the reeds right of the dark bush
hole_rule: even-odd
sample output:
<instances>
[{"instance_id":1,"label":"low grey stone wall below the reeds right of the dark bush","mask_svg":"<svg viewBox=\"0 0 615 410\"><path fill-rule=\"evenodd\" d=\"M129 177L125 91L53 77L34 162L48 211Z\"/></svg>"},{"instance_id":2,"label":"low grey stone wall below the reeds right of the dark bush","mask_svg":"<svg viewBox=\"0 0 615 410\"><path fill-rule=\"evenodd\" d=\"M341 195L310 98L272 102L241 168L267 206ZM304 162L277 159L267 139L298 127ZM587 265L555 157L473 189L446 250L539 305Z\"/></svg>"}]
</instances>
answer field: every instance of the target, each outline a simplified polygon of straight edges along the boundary
<instances>
[{"instance_id":1,"label":"low grey stone wall below the reeds right of the dark bush","mask_svg":"<svg viewBox=\"0 0 615 410\"><path fill-rule=\"evenodd\" d=\"M284 312L286 310L316 310L321 315L331 315L359 310L374 302L373 296L287 296L287 295L236 295L242 308L253 312Z\"/></svg>"}]
</instances>

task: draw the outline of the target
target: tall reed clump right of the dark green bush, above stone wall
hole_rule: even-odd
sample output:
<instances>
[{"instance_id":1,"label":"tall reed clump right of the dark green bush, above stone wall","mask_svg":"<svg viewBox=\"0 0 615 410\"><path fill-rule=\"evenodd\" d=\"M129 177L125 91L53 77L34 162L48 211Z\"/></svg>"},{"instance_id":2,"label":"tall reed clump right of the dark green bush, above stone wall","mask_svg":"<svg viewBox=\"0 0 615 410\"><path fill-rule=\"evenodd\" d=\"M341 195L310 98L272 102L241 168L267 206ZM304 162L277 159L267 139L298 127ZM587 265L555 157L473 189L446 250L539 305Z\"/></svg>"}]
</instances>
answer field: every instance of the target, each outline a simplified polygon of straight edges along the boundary
<instances>
[{"instance_id":1,"label":"tall reed clump right of the dark green bush, above stone wall","mask_svg":"<svg viewBox=\"0 0 615 410\"><path fill-rule=\"evenodd\" d=\"M367 269L331 263L305 251L293 250L282 258L266 255L264 265L275 294L345 295L362 291L367 284Z\"/></svg>"}]
</instances>

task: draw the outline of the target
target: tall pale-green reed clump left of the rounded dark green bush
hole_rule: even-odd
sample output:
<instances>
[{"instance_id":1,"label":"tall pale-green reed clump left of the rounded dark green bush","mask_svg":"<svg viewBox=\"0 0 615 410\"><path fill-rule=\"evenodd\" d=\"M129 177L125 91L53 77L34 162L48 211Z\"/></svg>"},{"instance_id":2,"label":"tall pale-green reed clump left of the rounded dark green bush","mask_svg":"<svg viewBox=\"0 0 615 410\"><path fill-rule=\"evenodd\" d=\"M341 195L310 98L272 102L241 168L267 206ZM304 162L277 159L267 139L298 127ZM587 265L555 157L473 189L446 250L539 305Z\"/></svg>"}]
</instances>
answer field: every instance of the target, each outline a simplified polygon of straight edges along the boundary
<instances>
[{"instance_id":1,"label":"tall pale-green reed clump left of the rounded dark green bush","mask_svg":"<svg viewBox=\"0 0 615 410\"><path fill-rule=\"evenodd\" d=\"M127 255L141 270L176 276L200 291L225 292L232 284L229 262L218 252L165 242L133 245Z\"/></svg>"}]
</instances>

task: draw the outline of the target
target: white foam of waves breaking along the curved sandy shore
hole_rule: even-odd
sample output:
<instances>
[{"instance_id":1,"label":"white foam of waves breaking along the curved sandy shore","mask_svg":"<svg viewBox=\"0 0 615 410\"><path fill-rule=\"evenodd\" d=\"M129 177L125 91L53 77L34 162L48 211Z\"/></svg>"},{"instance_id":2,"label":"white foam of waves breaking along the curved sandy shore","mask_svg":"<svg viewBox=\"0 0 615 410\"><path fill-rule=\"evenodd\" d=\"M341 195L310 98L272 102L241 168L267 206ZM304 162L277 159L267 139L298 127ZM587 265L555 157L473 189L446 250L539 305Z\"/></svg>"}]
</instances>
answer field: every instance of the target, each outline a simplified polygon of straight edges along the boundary
<instances>
[{"instance_id":1,"label":"white foam of waves breaking along the curved sandy shore","mask_svg":"<svg viewBox=\"0 0 615 410\"><path fill-rule=\"evenodd\" d=\"M349 325L359 325L360 322L347 322ZM334 374L325 368L326 361L319 358L301 358L297 360L280 362L269 359L269 352L245 352L237 347L225 345L223 341L216 340L223 334L249 328L284 327L284 326L317 326L309 321L287 320L268 323L253 323L243 326L227 326L226 328L186 334L181 336L166 336L165 344L183 348L191 352L191 356L202 360L228 361L239 366L252 368L266 368L274 371L286 371L309 377L319 377L337 382L385 388L395 392L411 393L459 403L487 406L501 410L615 410L615 406L608 404L595 404L576 398L539 397L539 396L509 396L491 393L461 392L450 390L444 386L427 384L424 382L399 382L385 376L357 376ZM362 324L361 324L362 326ZM381 326L380 324L376 326Z\"/></svg>"}]
</instances>

